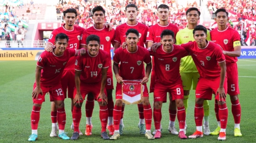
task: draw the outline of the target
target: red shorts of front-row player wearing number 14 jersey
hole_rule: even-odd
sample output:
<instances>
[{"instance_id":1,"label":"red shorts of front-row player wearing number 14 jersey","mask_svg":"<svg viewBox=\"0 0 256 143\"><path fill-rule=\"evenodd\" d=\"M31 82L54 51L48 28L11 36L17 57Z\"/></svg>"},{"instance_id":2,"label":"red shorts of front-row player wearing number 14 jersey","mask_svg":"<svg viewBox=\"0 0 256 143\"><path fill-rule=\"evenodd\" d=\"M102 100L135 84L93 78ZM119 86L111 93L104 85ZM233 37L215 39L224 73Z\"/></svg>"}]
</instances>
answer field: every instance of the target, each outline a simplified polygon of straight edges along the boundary
<instances>
[{"instance_id":1,"label":"red shorts of front-row player wearing number 14 jersey","mask_svg":"<svg viewBox=\"0 0 256 143\"><path fill-rule=\"evenodd\" d=\"M93 96L94 96L94 99L96 100L98 98L99 94L100 94L100 88L101 88L101 82L96 82L96 83L83 83L83 82L81 82L80 83L80 92L81 92L81 95L82 95L83 99L85 99L85 96L88 93L92 93ZM107 96L106 89L104 89L104 93ZM76 96L76 87L74 88L74 97L75 96ZM102 101L102 99L100 98L97 101Z\"/></svg>"}]
</instances>

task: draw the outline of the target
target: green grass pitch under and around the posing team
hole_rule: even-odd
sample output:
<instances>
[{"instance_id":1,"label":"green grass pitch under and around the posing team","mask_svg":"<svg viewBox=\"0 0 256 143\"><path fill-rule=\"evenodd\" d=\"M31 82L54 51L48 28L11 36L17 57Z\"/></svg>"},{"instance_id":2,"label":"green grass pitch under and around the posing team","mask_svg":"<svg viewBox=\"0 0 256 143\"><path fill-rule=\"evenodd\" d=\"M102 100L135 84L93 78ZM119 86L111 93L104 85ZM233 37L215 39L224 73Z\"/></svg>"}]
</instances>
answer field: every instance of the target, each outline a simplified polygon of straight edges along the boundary
<instances>
[{"instance_id":1,"label":"green grass pitch under and around the posing team","mask_svg":"<svg viewBox=\"0 0 256 143\"><path fill-rule=\"evenodd\" d=\"M31 134L30 114L32 109L32 90L35 79L36 61L0 61L0 143L23 143L28 142L27 139ZM242 108L241 114L241 132L243 136L234 137L234 119L231 113L231 102L227 100L229 109L229 118L227 125L227 139L225 142L255 142L255 85L256 85L256 59L241 59L238 61L239 83L240 83L240 103ZM115 79L114 79L115 80ZM115 84L116 81L114 81ZM149 86L149 83L148 83ZM115 91L113 91L115 93ZM114 97L114 94L113 94ZM227 96L229 98L229 95ZM138 109L137 105L127 105L124 113L124 135L116 141L103 140L100 138L100 120L99 107L95 102L93 112L93 135L80 136L77 141L64 141L59 138L51 138L51 108L49 102L49 95L45 96L46 102L42 105L40 111L40 122L38 127L38 140L36 142L52 142L52 143L70 143L70 142L90 142L90 143L178 143L178 142L217 142L217 136L203 136L199 139L181 140L176 135L171 135L168 132L169 112L168 103L163 104L162 108L162 138L148 140L144 135L139 134L138 130ZM187 136L195 131L194 123L194 91L191 90L189 98L189 109L187 111ZM153 94L150 94L150 102L153 101ZM72 136L73 131L70 129L72 123L71 115L71 100L65 100L65 110L67 114L67 122L65 132L69 137ZM85 104L82 107L82 119L80 129L85 132ZM210 117L209 125L213 131L217 124L214 114L214 101L210 101ZM178 129L178 122L176 119L176 128ZM153 132L154 124L152 122Z\"/></svg>"}]
</instances>

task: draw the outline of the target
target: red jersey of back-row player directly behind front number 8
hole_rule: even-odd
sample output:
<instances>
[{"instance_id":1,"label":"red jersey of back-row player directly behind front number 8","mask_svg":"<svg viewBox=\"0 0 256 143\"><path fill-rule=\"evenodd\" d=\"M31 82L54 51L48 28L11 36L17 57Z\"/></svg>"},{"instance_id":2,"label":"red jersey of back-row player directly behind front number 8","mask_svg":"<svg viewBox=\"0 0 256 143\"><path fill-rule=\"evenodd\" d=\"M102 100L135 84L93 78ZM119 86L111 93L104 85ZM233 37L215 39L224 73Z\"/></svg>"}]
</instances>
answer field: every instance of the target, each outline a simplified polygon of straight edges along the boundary
<instances>
[{"instance_id":1,"label":"red jersey of back-row player directly behind front number 8","mask_svg":"<svg viewBox=\"0 0 256 143\"><path fill-rule=\"evenodd\" d=\"M168 25L163 26L160 25L159 22L151 27L149 27L149 31L147 32L147 41L150 42L160 42L161 40L161 33L163 32L163 30L168 29L168 30L172 30L172 32L174 32L174 37L173 39L175 39L176 34L179 31L179 28L171 23L168 23Z\"/></svg>"}]
</instances>

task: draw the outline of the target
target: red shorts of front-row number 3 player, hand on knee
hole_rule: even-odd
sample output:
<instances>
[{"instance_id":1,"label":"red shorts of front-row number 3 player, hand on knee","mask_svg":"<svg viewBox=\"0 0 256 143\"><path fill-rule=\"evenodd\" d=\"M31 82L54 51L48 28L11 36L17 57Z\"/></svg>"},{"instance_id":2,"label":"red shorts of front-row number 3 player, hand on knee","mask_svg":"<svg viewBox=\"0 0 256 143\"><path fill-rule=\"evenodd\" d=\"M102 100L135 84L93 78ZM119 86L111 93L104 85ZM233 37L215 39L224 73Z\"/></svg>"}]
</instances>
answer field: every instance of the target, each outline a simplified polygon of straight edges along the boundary
<instances>
[{"instance_id":1,"label":"red shorts of front-row number 3 player, hand on knee","mask_svg":"<svg viewBox=\"0 0 256 143\"><path fill-rule=\"evenodd\" d=\"M212 100L212 93L216 95L217 89L220 86L220 77L214 80L205 79L200 77L196 86L196 98L204 98L206 100ZM227 94L227 78L224 81L224 90ZM219 100L219 94L215 96L216 100Z\"/></svg>"}]
</instances>

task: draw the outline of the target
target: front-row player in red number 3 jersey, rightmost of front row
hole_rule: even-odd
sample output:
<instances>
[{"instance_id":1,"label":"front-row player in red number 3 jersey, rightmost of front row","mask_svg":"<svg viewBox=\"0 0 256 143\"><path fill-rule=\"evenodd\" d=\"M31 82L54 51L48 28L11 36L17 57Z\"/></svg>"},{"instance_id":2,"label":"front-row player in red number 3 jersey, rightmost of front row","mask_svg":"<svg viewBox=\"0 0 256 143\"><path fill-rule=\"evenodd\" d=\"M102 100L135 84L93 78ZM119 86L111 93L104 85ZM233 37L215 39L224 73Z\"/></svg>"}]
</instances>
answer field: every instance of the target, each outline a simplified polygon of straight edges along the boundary
<instances>
[{"instance_id":1,"label":"front-row player in red number 3 jersey, rightmost of front row","mask_svg":"<svg viewBox=\"0 0 256 143\"><path fill-rule=\"evenodd\" d=\"M180 45L190 52L200 74L196 86L196 104L194 108L196 132L189 138L203 137L203 101L211 100L213 91L216 94L215 99L218 100L220 108L221 130L218 140L225 140L228 116L225 102L227 92L225 56L222 54L222 48L219 45L206 40L207 29L205 27L202 25L196 26L193 34L195 41Z\"/></svg>"}]
</instances>

